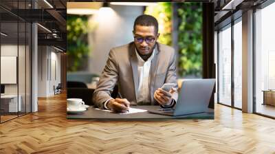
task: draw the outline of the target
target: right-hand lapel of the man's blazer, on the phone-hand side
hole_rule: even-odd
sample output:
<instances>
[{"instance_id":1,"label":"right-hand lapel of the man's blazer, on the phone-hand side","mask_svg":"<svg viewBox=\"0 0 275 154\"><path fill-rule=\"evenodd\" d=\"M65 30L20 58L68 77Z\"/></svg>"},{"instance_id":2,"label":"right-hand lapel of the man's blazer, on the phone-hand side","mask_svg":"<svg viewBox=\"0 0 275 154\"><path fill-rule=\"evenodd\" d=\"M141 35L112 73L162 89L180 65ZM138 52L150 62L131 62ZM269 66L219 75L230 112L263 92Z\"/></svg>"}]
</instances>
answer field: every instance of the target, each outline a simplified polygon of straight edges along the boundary
<instances>
[{"instance_id":1,"label":"right-hand lapel of the man's blazer, on the phone-hand side","mask_svg":"<svg viewBox=\"0 0 275 154\"><path fill-rule=\"evenodd\" d=\"M154 87L155 87L155 76L157 74L157 65L159 63L159 58L158 58L158 54L159 54L159 46L156 43L155 46L155 55L154 58L151 62L151 68L150 68L150 98L151 98L151 104L154 104L154 98L152 97L154 95Z\"/></svg>"}]
</instances>

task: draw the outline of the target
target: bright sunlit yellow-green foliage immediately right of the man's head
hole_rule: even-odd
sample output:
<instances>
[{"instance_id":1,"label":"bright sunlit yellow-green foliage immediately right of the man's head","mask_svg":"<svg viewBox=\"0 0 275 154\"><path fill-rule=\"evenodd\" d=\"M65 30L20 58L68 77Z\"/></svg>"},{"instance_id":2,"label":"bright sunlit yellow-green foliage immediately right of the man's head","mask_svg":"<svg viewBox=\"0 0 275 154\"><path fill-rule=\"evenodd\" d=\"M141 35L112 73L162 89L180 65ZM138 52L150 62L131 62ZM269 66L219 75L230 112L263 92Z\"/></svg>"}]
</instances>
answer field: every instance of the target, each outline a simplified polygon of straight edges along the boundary
<instances>
[{"instance_id":1,"label":"bright sunlit yellow-green foliage immediately right of the man's head","mask_svg":"<svg viewBox=\"0 0 275 154\"><path fill-rule=\"evenodd\" d=\"M159 43L172 45L172 6L169 2L160 2L156 6L146 7L144 14L150 14L159 23Z\"/></svg>"}]
</instances>

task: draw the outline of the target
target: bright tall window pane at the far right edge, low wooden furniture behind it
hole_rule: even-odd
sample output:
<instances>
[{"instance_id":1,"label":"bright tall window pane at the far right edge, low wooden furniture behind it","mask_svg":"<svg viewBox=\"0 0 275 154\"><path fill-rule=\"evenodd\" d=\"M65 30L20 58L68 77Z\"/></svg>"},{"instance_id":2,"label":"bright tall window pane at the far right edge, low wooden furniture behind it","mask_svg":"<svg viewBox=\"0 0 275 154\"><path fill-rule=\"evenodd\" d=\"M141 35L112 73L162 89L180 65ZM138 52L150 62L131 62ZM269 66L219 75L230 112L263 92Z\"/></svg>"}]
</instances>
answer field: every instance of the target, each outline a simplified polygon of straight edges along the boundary
<instances>
[{"instance_id":1,"label":"bright tall window pane at the far right edge, low wooden furniture behind it","mask_svg":"<svg viewBox=\"0 0 275 154\"><path fill-rule=\"evenodd\" d=\"M254 112L275 118L275 3L255 12Z\"/></svg>"}]
</instances>

